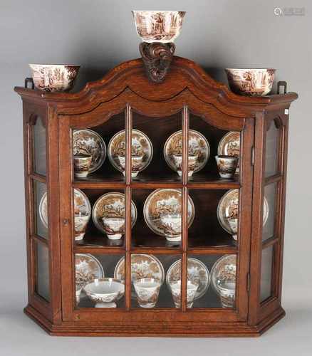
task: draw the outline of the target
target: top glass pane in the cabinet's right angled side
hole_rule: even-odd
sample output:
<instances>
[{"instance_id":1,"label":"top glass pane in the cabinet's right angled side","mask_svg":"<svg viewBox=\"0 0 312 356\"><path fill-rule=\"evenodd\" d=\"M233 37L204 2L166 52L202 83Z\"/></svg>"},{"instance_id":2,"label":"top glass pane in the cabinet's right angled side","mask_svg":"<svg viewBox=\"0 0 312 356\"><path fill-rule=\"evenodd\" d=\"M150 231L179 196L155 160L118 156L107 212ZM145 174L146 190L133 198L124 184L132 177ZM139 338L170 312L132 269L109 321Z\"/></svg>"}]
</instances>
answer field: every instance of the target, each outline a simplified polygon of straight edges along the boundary
<instances>
[{"instance_id":1,"label":"top glass pane in the cabinet's right angled side","mask_svg":"<svg viewBox=\"0 0 312 356\"><path fill-rule=\"evenodd\" d=\"M266 177L278 173L280 136L281 130L277 127L275 120L272 120L269 130L266 132Z\"/></svg>"}]
</instances>

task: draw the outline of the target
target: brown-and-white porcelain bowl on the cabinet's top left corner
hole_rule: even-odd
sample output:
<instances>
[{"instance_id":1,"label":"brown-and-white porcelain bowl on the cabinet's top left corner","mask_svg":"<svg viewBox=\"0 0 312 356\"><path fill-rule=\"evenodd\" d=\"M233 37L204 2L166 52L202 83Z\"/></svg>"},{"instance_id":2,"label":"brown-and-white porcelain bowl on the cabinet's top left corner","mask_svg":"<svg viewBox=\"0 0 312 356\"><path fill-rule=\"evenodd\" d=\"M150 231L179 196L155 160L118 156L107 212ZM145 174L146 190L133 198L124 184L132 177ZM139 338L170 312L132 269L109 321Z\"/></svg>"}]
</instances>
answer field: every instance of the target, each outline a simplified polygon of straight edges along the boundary
<instances>
[{"instance_id":1,"label":"brown-and-white porcelain bowl on the cabinet's top left corner","mask_svg":"<svg viewBox=\"0 0 312 356\"><path fill-rule=\"evenodd\" d=\"M62 92L73 88L80 66L68 64L29 64L37 89Z\"/></svg>"}]
</instances>

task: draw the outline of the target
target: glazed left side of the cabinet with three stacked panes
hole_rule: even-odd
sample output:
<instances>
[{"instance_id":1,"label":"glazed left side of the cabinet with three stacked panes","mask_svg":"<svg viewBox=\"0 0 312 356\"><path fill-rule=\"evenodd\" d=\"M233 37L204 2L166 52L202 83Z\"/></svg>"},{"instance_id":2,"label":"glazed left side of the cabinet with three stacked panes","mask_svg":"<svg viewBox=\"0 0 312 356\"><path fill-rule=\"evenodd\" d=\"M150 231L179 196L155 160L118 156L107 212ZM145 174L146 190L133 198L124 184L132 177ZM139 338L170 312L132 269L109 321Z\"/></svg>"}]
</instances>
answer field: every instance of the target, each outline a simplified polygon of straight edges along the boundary
<instances>
[{"instance_id":1,"label":"glazed left side of the cabinet with three stacked panes","mask_svg":"<svg viewBox=\"0 0 312 356\"><path fill-rule=\"evenodd\" d=\"M27 181L29 204L28 231L31 260L31 300L37 308L45 308L51 300L49 201L47 189L47 123L46 116L31 115L26 124ZM46 310L46 309L43 309ZM44 312L43 312L44 313Z\"/></svg>"}]
</instances>

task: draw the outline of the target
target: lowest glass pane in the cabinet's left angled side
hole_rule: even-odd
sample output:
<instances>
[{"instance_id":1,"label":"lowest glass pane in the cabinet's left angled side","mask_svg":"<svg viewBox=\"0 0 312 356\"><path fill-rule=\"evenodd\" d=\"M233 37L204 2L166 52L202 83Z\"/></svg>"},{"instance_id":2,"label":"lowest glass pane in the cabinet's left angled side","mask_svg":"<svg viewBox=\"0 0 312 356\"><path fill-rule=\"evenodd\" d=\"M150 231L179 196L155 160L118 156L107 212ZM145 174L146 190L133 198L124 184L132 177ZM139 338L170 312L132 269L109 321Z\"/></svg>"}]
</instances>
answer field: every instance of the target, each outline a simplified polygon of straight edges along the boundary
<instances>
[{"instance_id":1,"label":"lowest glass pane in the cabinet's left angled side","mask_svg":"<svg viewBox=\"0 0 312 356\"><path fill-rule=\"evenodd\" d=\"M36 242L36 284L35 291L45 300L50 300L49 253L46 245Z\"/></svg>"}]
</instances>

